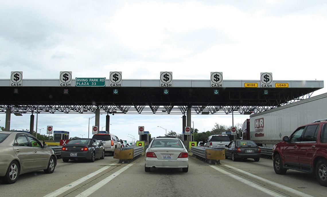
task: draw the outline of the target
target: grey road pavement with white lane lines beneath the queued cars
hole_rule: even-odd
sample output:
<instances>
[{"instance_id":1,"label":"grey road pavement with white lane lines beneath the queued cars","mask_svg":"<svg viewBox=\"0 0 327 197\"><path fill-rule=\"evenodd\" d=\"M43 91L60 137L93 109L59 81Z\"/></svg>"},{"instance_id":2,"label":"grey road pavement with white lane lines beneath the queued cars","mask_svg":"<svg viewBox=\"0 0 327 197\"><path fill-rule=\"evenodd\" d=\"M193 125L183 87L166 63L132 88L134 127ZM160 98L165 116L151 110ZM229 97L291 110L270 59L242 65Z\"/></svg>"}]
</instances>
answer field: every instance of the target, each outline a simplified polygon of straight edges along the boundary
<instances>
[{"instance_id":1,"label":"grey road pavement with white lane lines beneath the queued cars","mask_svg":"<svg viewBox=\"0 0 327 197\"><path fill-rule=\"evenodd\" d=\"M189 171L156 169L144 171L144 156L131 163L118 163L107 156L94 163L58 161L53 174L43 171L23 174L15 184L0 182L1 196L326 196L326 187L314 175L288 170L275 174L271 159L211 165L189 157Z\"/></svg>"}]
</instances>

